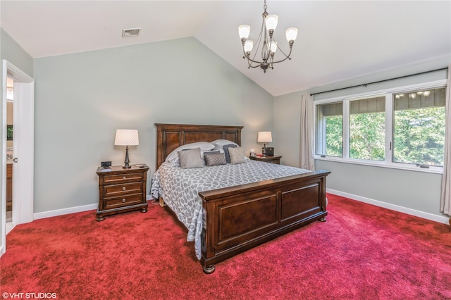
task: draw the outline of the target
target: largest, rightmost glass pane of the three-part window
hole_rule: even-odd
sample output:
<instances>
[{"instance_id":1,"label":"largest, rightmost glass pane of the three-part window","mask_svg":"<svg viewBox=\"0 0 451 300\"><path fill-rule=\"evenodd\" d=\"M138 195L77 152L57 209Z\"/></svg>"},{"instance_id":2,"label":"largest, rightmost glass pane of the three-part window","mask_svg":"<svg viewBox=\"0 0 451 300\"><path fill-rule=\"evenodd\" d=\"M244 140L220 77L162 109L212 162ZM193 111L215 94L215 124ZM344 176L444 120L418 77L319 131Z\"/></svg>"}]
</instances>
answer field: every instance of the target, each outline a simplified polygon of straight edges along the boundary
<instances>
[{"instance_id":1,"label":"largest, rightmost glass pane of the three-part window","mask_svg":"<svg viewBox=\"0 0 451 300\"><path fill-rule=\"evenodd\" d=\"M394 94L393 161L443 166L445 89Z\"/></svg>"}]
</instances>

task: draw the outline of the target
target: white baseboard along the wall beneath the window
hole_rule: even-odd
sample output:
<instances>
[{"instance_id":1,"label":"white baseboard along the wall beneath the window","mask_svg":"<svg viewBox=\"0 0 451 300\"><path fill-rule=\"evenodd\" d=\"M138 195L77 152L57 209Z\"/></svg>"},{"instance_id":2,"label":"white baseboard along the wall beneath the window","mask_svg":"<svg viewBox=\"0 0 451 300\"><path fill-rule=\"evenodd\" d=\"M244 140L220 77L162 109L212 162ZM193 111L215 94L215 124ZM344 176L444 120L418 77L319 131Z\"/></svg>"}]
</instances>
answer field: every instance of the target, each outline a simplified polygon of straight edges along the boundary
<instances>
[{"instance_id":1,"label":"white baseboard along the wall beneath the window","mask_svg":"<svg viewBox=\"0 0 451 300\"><path fill-rule=\"evenodd\" d=\"M366 204L372 204L374 206L388 208L388 209L391 209L392 211L399 211L400 213L407 213L408 215L414 215L416 217L424 218L426 220L431 220L431 221L435 221L435 222L438 222L438 223L443 223L443 224L446 224L446 225L449 224L449 218L447 218L445 216L434 215L432 213L425 213L424 211L416 211L415 209L412 209L412 208L407 208L407 207L403 207L403 206L397 206L395 204L390 204L390 203L383 202L383 201L378 201L378 200L369 199L369 198L362 197L362 196L357 196L357 195L354 195L354 194L340 192L340 191L337 191L335 189L326 189L326 192L328 192L330 194L338 195L338 196L343 196L343 197L346 197L346 198L349 198L349 199L352 199L352 200L357 200L357 201L360 201L360 202L364 202Z\"/></svg>"}]
</instances>

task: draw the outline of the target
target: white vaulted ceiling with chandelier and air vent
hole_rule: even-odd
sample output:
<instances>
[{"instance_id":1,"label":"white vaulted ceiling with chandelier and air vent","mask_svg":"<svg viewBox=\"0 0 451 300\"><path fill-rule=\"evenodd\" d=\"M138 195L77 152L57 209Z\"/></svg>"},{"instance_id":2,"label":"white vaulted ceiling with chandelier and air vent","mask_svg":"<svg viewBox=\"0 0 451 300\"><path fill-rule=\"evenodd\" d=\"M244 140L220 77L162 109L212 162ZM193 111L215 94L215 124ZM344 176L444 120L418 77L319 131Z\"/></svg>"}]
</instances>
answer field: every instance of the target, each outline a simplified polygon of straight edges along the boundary
<instances>
[{"instance_id":1,"label":"white vaulted ceiling with chandelier and air vent","mask_svg":"<svg viewBox=\"0 0 451 300\"><path fill-rule=\"evenodd\" d=\"M247 23L256 40L262 12L263 1L1 0L0 25L34 58L195 37L273 96L451 55L451 1L268 0L281 48L286 28L299 33L292 60L264 74L237 35Z\"/></svg>"}]
</instances>

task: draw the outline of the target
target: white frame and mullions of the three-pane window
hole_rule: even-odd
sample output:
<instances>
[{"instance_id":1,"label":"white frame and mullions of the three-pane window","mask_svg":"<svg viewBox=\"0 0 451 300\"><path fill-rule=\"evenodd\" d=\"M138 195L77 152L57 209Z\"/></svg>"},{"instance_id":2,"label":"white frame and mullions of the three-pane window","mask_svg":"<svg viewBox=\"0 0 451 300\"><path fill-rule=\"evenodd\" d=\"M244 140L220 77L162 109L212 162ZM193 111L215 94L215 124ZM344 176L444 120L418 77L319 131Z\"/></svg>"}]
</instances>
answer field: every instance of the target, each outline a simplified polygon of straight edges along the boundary
<instances>
[{"instance_id":1,"label":"white frame and mullions of the three-pane window","mask_svg":"<svg viewBox=\"0 0 451 300\"><path fill-rule=\"evenodd\" d=\"M440 87L446 87L447 80L435 80L431 82L424 82L415 85L404 85L401 87L391 87L388 89L380 89L371 92L349 94L345 96L337 96L328 99L314 101L313 114L314 114L314 159L319 161L335 161L340 163L353 163L357 165L370 165L383 168L394 168L400 170L412 170L416 172L424 173L443 173L443 167L429 165L429 168L421 168L413 163L395 163L393 162L393 132L394 132L394 100L393 94L402 92L411 92L415 89L434 89ZM385 161L371 161L361 160L357 158L350 158L350 101L365 99L369 97L384 96L385 95ZM316 154L316 106L320 104L329 104L333 102L342 102L343 104L343 145L342 145L342 157L338 156L323 156Z\"/></svg>"}]
</instances>

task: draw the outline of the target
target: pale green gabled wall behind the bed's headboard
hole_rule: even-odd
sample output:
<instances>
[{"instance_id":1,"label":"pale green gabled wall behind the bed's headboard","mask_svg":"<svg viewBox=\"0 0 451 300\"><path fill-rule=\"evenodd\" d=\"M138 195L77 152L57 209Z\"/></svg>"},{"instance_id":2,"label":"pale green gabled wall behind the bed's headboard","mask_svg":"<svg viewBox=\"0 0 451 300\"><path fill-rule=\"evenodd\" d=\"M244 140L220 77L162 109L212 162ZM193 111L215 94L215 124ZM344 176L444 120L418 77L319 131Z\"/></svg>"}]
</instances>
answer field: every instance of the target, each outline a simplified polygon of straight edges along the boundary
<instances>
[{"instance_id":1,"label":"pale green gabled wall behind the bed's headboard","mask_svg":"<svg viewBox=\"0 0 451 300\"><path fill-rule=\"evenodd\" d=\"M130 163L154 173L154 123L244 125L245 151L272 129L273 96L194 38L35 58L35 213L95 204L118 128L139 130Z\"/></svg>"}]
</instances>

